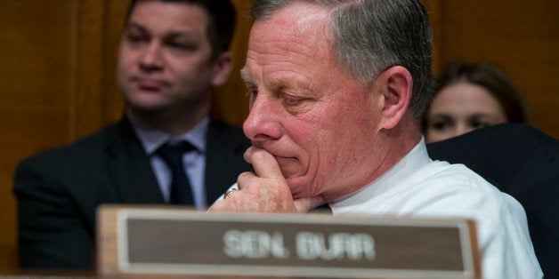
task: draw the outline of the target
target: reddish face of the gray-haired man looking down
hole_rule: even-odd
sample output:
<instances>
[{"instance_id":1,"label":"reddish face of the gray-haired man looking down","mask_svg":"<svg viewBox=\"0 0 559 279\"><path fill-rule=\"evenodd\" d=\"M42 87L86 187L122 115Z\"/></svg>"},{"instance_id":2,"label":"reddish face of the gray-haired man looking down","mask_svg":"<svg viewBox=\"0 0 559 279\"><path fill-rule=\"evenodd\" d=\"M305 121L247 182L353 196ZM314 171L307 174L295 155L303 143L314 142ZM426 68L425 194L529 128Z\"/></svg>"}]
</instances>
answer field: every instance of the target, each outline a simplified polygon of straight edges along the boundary
<instances>
[{"instance_id":1,"label":"reddish face of the gray-haired man looking down","mask_svg":"<svg viewBox=\"0 0 559 279\"><path fill-rule=\"evenodd\" d=\"M243 126L274 155L294 197L340 196L370 182L382 107L330 53L328 13L293 4L251 29L242 76L251 94Z\"/></svg>"}]
</instances>

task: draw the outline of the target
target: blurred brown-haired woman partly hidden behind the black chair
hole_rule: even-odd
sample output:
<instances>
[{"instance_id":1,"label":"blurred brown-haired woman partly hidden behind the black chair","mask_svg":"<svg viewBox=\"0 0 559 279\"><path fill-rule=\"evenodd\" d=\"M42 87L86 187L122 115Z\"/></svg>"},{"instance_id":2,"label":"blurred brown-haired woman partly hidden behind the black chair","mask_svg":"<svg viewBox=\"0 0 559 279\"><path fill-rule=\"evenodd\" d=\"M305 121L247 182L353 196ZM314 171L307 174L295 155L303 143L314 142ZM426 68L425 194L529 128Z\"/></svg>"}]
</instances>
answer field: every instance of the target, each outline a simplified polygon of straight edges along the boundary
<instances>
[{"instance_id":1,"label":"blurred brown-haired woman partly hidden behind the black chair","mask_svg":"<svg viewBox=\"0 0 559 279\"><path fill-rule=\"evenodd\" d=\"M423 121L426 142L507 122L527 124L528 112L522 93L500 68L462 60L442 68Z\"/></svg>"}]
</instances>

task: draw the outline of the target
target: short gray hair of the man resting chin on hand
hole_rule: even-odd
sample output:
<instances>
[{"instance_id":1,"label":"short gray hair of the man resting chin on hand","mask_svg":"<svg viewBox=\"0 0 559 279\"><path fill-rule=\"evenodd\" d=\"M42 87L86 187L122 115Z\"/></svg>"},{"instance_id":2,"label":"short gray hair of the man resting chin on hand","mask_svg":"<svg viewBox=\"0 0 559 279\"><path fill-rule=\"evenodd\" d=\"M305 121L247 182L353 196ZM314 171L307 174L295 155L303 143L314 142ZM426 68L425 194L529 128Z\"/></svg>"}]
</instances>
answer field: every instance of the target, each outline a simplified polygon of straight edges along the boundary
<instances>
[{"instance_id":1,"label":"short gray hair of the man resting chin on hand","mask_svg":"<svg viewBox=\"0 0 559 279\"><path fill-rule=\"evenodd\" d=\"M354 80L369 83L387 68L407 68L414 82L409 109L421 119L433 94L433 31L419 0L255 0L250 15L265 20L297 2L331 11L333 55Z\"/></svg>"}]
</instances>

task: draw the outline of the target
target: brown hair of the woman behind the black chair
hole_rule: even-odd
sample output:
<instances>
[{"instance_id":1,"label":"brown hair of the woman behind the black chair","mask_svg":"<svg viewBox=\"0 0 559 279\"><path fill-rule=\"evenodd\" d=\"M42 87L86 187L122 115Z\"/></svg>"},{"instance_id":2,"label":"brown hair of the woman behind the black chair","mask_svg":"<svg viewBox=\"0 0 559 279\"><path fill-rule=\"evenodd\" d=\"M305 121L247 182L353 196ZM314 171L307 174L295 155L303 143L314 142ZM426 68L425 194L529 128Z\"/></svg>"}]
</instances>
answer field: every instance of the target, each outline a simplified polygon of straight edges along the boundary
<instances>
[{"instance_id":1,"label":"brown hair of the woman behind the black chair","mask_svg":"<svg viewBox=\"0 0 559 279\"><path fill-rule=\"evenodd\" d=\"M444 87L458 82L479 85L490 92L503 108L507 122L528 123L528 112L522 92L497 66L487 62L450 62L435 77L433 98Z\"/></svg>"}]
</instances>

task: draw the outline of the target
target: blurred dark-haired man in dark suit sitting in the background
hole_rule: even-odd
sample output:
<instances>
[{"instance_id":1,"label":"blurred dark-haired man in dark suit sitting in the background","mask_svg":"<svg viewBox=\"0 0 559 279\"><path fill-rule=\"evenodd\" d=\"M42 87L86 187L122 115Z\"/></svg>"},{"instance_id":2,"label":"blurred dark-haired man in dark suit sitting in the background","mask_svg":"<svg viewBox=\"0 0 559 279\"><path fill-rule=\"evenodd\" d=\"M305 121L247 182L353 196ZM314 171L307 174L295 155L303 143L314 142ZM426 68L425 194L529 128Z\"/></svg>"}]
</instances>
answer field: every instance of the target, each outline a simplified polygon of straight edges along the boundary
<instances>
[{"instance_id":1,"label":"blurred dark-haired man in dark suit sitting in the background","mask_svg":"<svg viewBox=\"0 0 559 279\"><path fill-rule=\"evenodd\" d=\"M98 205L173 202L163 146L188 142L184 203L198 209L251 169L242 131L209 117L211 87L231 73L234 23L228 0L132 2L117 71L123 119L18 166L20 267L91 268Z\"/></svg>"}]
</instances>

